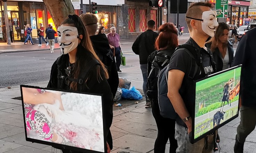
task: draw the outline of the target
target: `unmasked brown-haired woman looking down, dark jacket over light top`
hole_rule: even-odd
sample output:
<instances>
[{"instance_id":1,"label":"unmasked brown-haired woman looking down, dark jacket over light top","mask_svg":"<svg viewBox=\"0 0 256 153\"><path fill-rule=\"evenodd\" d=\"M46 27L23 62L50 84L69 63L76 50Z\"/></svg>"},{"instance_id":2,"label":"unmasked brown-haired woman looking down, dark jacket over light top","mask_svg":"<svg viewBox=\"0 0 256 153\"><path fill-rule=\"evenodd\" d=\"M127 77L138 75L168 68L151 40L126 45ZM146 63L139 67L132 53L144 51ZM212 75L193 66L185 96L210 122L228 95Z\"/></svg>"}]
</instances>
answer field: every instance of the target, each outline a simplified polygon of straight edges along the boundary
<instances>
[{"instance_id":1,"label":"unmasked brown-haired woman looking down, dark jacket over light top","mask_svg":"<svg viewBox=\"0 0 256 153\"><path fill-rule=\"evenodd\" d=\"M220 22L215 36L207 43L214 56L217 72L230 68L234 58L234 49L232 42L228 40L228 32L229 26L225 22Z\"/></svg>"}]
</instances>

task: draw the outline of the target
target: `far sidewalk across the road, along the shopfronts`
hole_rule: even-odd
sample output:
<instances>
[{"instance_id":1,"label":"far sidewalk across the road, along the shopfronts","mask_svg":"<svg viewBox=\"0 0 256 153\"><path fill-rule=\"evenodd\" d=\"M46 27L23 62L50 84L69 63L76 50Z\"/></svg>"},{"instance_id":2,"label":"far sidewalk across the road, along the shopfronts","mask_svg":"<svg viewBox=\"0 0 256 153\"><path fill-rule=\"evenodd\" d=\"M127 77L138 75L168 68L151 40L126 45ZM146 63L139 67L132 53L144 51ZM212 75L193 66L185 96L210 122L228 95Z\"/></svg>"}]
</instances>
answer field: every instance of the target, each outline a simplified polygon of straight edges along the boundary
<instances>
[{"instance_id":1,"label":"far sidewalk across the road, along the shopfronts","mask_svg":"<svg viewBox=\"0 0 256 153\"><path fill-rule=\"evenodd\" d=\"M189 38L189 34L184 34L183 36L179 36L179 40L187 40ZM131 45L136 39L122 39L120 41L121 45ZM60 49L59 43L55 43L55 50ZM46 46L45 43L42 43L42 46L38 46L38 44L32 45L24 45L24 42L14 42L10 45L7 43L0 43L0 54L1 53L14 53L14 52L28 52L28 51L49 51L49 45Z\"/></svg>"}]
</instances>

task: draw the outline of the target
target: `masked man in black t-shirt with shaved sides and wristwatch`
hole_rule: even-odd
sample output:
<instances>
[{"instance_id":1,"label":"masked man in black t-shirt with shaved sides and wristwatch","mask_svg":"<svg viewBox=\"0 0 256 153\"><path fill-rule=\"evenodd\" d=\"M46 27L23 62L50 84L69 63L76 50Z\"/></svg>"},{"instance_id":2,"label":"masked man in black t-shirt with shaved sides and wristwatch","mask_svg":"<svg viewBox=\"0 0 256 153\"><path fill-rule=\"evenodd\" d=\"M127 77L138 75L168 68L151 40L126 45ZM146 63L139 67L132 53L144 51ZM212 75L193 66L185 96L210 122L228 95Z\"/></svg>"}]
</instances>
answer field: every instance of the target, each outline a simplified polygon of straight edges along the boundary
<instances>
[{"instance_id":1,"label":"masked man in black t-shirt with shaved sides and wristwatch","mask_svg":"<svg viewBox=\"0 0 256 153\"><path fill-rule=\"evenodd\" d=\"M209 36L213 37L218 26L216 11L211 10L208 2L193 3L187 10L186 22L190 38L185 44L187 48L178 48L172 55L168 74L168 97L179 117L176 119L177 153L212 153L215 136L190 143L193 111L193 80L197 80L216 72L216 64L212 53L205 46ZM192 49L191 49L192 48ZM190 54L188 52L191 52ZM192 55L194 57L192 57ZM199 67L193 77L191 71L195 64ZM194 73L193 73L194 74Z\"/></svg>"}]
</instances>

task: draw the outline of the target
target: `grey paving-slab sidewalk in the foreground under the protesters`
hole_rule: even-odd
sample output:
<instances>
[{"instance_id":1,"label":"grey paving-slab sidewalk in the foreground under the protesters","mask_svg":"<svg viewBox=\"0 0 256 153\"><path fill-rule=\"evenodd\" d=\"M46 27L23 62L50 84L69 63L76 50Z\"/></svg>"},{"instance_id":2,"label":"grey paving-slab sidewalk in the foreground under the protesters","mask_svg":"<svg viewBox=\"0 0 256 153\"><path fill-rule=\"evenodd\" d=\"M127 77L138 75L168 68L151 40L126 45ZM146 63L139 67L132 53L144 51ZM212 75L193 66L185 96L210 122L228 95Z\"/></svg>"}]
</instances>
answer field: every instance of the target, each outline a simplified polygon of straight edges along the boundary
<instances>
[{"instance_id":1,"label":"grey paving-slab sidewalk in the foreground under the protesters","mask_svg":"<svg viewBox=\"0 0 256 153\"><path fill-rule=\"evenodd\" d=\"M132 82L132 86L142 88L140 66L122 69L120 77ZM46 86L47 82L32 84ZM0 153L50 153L52 147L25 141L22 103L13 98L21 96L18 86L0 89ZM154 153L154 142L157 127L151 108L145 108L145 101L134 104L134 101L120 102L124 107L114 107L114 119L111 126L113 136L113 153ZM126 106L125 106L126 105ZM236 127L240 118L236 118L219 129L220 152L233 153ZM166 123L168 124L168 123ZM255 153L256 130L247 138L244 153ZM165 153L171 145L166 145ZM60 153L60 151L58 151ZM157 151L155 151L157 153Z\"/></svg>"}]
</instances>

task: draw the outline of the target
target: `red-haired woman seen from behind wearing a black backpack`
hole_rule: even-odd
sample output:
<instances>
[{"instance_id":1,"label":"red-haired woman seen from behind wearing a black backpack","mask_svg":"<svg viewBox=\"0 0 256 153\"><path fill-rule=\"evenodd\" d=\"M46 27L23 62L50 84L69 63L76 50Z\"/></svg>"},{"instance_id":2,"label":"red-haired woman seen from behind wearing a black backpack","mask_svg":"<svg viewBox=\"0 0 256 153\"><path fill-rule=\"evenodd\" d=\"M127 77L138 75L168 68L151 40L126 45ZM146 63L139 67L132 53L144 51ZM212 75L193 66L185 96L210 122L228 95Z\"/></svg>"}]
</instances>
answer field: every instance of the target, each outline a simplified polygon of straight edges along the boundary
<instances>
[{"instance_id":1,"label":"red-haired woman seen from behind wearing a black backpack","mask_svg":"<svg viewBox=\"0 0 256 153\"><path fill-rule=\"evenodd\" d=\"M150 71L154 67L159 67L163 69L166 65L169 64L174 50L178 46L178 32L176 27L172 23L165 23L159 27L159 36L155 42L156 51L152 52L148 57L148 67L147 67L147 76L152 75ZM148 82L148 85L152 82ZM157 84L157 77L153 84ZM148 91L152 90L148 86ZM152 91L157 91L153 89ZM170 141L170 150L169 153L175 153L178 147L177 141L174 137L175 135L175 120L169 118L163 118L160 114L158 107L157 92L149 93L147 92L148 99L151 101L152 113L156 120L156 125L158 129L157 138L155 141L154 150L157 153L165 152L165 145L169 139Z\"/></svg>"}]
</instances>

